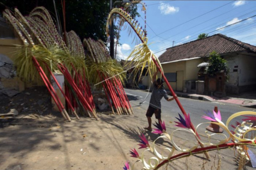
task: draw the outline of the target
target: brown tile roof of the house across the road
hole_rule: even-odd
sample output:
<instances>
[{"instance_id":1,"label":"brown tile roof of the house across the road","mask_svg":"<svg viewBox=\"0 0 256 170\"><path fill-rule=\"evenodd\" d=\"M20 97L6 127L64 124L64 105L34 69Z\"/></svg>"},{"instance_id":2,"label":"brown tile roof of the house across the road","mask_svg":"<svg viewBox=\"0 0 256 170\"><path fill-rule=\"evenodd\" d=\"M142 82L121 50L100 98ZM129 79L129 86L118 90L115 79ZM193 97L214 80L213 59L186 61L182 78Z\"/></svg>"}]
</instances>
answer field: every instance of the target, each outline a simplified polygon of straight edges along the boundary
<instances>
[{"instance_id":1,"label":"brown tile roof of the house across the road","mask_svg":"<svg viewBox=\"0 0 256 170\"><path fill-rule=\"evenodd\" d=\"M207 57L212 51L219 54L249 50L256 52L256 46L243 43L234 38L215 34L203 39L168 48L158 59L160 62L170 62L182 59Z\"/></svg>"}]
</instances>

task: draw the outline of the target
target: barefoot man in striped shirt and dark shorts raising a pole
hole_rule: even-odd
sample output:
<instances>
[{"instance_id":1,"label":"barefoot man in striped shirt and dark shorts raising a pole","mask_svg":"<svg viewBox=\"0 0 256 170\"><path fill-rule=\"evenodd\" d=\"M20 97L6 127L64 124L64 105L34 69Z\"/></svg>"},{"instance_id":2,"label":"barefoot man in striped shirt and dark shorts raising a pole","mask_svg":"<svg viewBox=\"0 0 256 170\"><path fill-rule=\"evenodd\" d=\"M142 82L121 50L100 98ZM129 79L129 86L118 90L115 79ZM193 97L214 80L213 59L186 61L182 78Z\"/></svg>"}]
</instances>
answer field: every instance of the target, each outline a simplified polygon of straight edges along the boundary
<instances>
[{"instance_id":1,"label":"barefoot man in striped shirt and dark shorts raising a pole","mask_svg":"<svg viewBox=\"0 0 256 170\"><path fill-rule=\"evenodd\" d=\"M148 127L144 127L144 129L149 130L149 131L152 131L151 117L153 116L154 113L155 113L156 119L158 119L158 123L160 124L160 121L162 123L161 102L160 102L162 97L164 97L167 101L172 101L174 99L174 97L172 97L172 98L168 97L166 90L164 90L164 88L163 88L163 80L162 79L156 80L157 73L158 73L158 70L154 73L154 75L152 77L154 87L153 87L153 91L151 94L148 110L146 113L146 116L148 119ZM175 94L175 96L177 97L176 94Z\"/></svg>"}]
</instances>

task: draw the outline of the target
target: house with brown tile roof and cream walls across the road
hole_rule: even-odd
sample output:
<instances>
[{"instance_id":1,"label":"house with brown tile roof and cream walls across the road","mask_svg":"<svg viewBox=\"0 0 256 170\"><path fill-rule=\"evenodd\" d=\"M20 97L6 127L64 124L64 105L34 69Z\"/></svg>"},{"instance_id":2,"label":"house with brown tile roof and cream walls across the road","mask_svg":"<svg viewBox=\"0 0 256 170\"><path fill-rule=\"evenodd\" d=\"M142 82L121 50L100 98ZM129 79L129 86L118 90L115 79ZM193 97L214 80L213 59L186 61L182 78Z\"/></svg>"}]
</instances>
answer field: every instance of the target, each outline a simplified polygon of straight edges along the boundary
<instances>
[{"instance_id":1,"label":"house with brown tile roof and cream walls across the road","mask_svg":"<svg viewBox=\"0 0 256 170\"><path fill-rule=\"evenodd\" d=\"M188 82L198 80L197 66L207 62L212 51L216 51L230 68L226 93L239 94L256 90L256 46L215 34L203 39L168 48L159 60L164 74L174 90L182 91Z\"/></svg>"}]
</instances>

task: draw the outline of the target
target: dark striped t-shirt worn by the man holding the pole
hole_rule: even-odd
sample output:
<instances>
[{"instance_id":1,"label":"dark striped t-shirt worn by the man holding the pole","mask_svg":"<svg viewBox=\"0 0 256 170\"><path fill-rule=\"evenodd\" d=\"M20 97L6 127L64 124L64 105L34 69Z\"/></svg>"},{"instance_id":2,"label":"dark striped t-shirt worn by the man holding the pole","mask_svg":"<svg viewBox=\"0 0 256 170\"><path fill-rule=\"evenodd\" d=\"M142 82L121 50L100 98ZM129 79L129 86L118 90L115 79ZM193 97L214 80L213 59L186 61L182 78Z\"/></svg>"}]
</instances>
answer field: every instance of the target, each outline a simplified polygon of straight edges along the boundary
<instances>
[{"instance_id":1,"label":"dark striped t-shirt worn by the man holding the pole","mask_svg":"<svg viewBox=\"0 0 256 170\"><path fill-rule=\"evenodd\" d=\"M153 83L153 91L151 94L151 98L149 101L149 105L152 106L155 109L161 109L161 99L164 97L166 100L169 98L167 95L166 90L164 88L157 88L155 86L156 81Z\"/></svg>"}]
</instances>

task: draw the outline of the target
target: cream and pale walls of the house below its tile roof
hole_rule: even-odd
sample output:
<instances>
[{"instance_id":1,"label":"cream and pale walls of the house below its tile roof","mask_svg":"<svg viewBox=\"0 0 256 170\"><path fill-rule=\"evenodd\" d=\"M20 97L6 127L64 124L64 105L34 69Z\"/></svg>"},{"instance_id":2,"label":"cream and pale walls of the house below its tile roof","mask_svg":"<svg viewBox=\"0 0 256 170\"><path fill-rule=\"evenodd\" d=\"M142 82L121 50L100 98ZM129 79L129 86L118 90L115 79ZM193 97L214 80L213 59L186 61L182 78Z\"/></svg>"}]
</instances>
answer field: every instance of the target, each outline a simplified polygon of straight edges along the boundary
<instances>
[{"instance_id":1,"label":"cream and pale walls of the house below its tile roof","mask_svg":"<svg viewBox=\"0 0 256 170\"><path fill-rule=\"evenodd\" d=\"M244 54L230 54L224 57L227 60L227 66L230 68L229 81L226 82L227 93L238 94L239 91L249 91L256 89L256 54L244 52ZM197 65L202 63L203 59L192 59L186 61L177 61L162 64L164 73L176 73L183 71L183 87L186 87L186 81L197 80L197 73L200 68ZM237 69L237 72L236 72ZM159 77L160 75L158 75ZM177 83L169 82L171 87L176 90ZM150 84L148 84L150 86ZM168 89L164 83L165 89Z\"/></svg>"}]
</instances>

